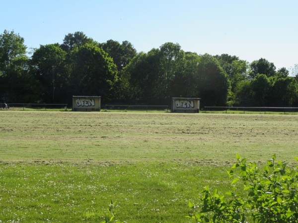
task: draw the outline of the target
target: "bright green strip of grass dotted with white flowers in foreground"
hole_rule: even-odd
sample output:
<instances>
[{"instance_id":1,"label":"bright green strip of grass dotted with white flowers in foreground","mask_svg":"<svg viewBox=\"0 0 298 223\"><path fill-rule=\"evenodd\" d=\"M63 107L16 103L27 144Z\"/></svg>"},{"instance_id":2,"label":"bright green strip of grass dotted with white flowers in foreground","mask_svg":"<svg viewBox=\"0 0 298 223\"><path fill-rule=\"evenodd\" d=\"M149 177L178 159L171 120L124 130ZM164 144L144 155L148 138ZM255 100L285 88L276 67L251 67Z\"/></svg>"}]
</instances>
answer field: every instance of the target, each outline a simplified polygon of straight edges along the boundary
<instances>
[{"instance_id":1,"label":"bright green strip of grass dotted with white flowers in foreground","mask_svg":"<svg viewBox=\"0 0 298 223\"><path fill-rule=\"evenodd\" d=\"M0 171L2 222L99 222L112 199L122 221L187 222L187 203L199 202L204 185L228 185L217 167L181 164L1 165Z\"/></svg>"}]
</instances>

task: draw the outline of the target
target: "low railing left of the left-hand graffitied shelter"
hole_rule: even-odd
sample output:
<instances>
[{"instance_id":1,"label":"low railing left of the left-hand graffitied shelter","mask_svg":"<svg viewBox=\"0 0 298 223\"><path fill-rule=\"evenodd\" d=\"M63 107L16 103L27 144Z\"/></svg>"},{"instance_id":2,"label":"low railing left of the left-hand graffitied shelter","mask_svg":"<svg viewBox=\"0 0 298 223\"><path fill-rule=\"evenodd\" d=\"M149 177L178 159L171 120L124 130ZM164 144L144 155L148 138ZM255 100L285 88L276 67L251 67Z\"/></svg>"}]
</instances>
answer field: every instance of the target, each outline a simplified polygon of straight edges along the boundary
<instances>
[{"instance_id":1,"label":"low railing left of the left-hand graffitied shelter","mask_svg":"<svg viewBox=\"0 0 298 223\"><path fill-rule=\"evenodd\" d=\"M9 108L9 110L22 111L67 111L67 104L7 104L7 107ZM4 104L0 104L0 110L5 110Z\"/></svg>"}]
</instances>

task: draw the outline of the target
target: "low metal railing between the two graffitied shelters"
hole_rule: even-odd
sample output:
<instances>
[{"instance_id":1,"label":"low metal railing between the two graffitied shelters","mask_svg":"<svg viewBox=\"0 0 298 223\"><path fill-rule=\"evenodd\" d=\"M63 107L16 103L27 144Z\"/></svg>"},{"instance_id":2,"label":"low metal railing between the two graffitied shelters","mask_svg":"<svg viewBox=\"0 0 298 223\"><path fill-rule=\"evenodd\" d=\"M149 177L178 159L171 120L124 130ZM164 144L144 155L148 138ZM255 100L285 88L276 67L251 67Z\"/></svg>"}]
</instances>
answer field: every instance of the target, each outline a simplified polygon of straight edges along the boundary
<instances>
[{"instance_id":1,"label":"low metal railing between the two graffitied shelters","mask_svg":"<svg viewBox=\"0 0 298 223\"><path fill-rule=\"evenodd\" d=\"M104 105L104 111L169 111L168 106Z\"/></svg>"}]
</instances>

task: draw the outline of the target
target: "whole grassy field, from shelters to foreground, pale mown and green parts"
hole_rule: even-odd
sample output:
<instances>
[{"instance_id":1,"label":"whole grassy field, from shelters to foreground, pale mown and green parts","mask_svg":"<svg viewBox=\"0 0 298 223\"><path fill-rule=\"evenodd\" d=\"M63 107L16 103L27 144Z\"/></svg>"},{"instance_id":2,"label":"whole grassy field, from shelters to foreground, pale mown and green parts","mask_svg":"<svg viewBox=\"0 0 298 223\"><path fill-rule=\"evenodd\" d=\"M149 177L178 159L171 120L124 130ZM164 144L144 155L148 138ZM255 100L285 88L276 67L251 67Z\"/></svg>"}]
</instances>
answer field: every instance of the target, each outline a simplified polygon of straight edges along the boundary
<instances>
[{"instance_id":1,"label":"whole grassy field, from shelters to foreground, pale mown and green parts","mask_svg":"<svg viewBox=\"0 0 298 223\"><path fill-rule=\"evenodd\" d=\"M0 221L190 222L235 154L294 165L298 115L0 111Z\"/></svg>"}]
</instances>

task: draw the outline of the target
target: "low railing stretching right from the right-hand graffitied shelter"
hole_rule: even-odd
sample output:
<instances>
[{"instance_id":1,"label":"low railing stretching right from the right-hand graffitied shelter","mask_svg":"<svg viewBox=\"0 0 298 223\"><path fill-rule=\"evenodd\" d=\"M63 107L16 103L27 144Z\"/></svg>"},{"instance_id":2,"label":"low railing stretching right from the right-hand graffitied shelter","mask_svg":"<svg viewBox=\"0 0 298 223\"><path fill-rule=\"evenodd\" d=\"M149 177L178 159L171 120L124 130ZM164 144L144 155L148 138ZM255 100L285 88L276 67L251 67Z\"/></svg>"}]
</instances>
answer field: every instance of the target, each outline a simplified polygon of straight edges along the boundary
<instances>
[{"instance_id":1,"label":"low railing stretching right from the right-hand graffitied shelter","mask_svg":"<svg viewBox=\"0 0 298 223\"><path fill-rule=\"evenodd\" d=\"M281 108L281 107L204 107L204 111L225 111L225 113L227 113L227 111L243 111L243 113L246 112L264 112L266 114L266 112L289 112L289 113L293 113L293 112L298 112L298 108Z\"/></svg>"}]
</instances>

